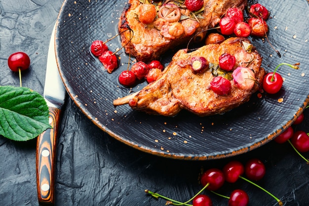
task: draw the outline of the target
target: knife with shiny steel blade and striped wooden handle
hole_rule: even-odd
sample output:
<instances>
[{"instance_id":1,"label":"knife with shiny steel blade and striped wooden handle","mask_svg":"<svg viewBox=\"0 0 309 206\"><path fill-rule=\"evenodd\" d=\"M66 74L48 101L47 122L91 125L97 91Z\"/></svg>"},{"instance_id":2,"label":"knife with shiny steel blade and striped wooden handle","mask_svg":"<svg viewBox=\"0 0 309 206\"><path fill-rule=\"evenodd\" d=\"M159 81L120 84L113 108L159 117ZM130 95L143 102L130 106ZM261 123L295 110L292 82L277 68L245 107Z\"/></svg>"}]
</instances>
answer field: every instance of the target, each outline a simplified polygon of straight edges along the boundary
<instances>
[{"instance_id":1,"label":"knife with shiny steel blade and striped wooden handle","mask_svg":"<svg viewBox=\"0 0 309 206\"><path fill-rule=\"evenodd\" d=\"M55 29L49 42L43 97L49 109L51 129L38 136L37 141L37 189L39 205L54 205L54 171L56 164L56 140L61 108L65 102L66 89L60 78L55 55Z\"/></svg>"}]
</instances>

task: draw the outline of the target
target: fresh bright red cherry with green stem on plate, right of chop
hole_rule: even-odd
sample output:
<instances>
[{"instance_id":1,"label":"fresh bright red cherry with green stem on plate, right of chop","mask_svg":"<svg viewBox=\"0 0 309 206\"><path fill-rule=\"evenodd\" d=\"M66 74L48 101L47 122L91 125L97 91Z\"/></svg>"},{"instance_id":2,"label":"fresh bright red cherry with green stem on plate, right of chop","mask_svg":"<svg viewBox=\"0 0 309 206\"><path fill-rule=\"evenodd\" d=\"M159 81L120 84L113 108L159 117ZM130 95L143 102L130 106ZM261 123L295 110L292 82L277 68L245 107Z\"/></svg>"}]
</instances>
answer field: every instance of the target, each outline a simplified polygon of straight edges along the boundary
<instances>
[{"instance_id":1,"label":"fresh bright red cherry with green stem on plate, right of chop","mask_svg":"<svg viewBox=\"0 0 309 206\"><path fill-rule=\"evenodd\" d=\"M272 75L273 75L273 72L265 75L262 85L263 85L263 89L267 93L275 94L281 89L282 84L283 84L283 79L282 79L281 75L279 75L278 73L274 73L273 81L272 81L271 80Z\"/></svg>"}]
</instances>

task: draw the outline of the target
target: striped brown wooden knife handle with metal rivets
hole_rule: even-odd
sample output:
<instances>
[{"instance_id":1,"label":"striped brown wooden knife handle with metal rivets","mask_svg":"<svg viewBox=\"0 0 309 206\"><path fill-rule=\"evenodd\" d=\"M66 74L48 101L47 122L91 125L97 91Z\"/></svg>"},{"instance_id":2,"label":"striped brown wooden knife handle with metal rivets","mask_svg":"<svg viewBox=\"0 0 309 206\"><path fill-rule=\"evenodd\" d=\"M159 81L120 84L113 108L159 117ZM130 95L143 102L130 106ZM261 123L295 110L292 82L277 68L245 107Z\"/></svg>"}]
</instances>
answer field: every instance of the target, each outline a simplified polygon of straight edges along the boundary
<instances>
[{"instance_id":1,"label":"striped brown wooden knife handle with metal rivets","mask_svg":"<svg viewBox=\"0 0 309 206\"><path fill-rule=\"evenodd\" d=\"M49 107L49 124L37 142L37 189L40 205L54 205L54 176L56 164L56 140L60 121L60 109Z\"/></svg>"}]
</instances>

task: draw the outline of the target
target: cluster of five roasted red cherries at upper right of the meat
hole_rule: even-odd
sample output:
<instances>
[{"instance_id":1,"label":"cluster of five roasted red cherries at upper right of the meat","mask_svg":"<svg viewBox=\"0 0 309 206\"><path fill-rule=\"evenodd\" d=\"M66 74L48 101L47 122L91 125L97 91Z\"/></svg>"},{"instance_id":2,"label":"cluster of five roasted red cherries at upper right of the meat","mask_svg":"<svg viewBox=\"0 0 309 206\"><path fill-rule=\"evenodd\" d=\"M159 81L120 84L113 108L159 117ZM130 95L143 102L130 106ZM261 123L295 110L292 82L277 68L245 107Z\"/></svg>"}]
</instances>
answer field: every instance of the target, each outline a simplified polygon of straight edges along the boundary
<instances>
[{"instance_id":1,"label":"cluster of five roasted red cherries at upper right of the meat","mask_svg":"<svg viewBox=\"0 0 309 206\"><path fill-rule=\"evenodd\" d=\"M229 8L220 20L220 30L223 35L235 35L237 37L265 37L268 32L266 20L269 18L269 10L259 4L253 4L249 9L249 19L244 21L244 14L237 7Z\"/></svg>"}]
</instances>

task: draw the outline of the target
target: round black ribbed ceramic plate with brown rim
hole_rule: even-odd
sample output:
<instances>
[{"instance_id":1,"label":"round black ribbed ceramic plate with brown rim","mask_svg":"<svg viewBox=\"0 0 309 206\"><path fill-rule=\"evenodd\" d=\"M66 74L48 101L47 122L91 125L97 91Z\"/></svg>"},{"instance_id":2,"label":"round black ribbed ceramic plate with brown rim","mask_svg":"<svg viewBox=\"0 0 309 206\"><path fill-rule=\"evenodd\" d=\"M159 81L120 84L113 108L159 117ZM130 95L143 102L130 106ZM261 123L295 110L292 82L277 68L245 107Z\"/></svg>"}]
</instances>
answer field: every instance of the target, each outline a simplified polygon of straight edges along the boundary
<instances>
[{"instance_id":1,"label":"round black ribbed ceramic plate with brown rim","mask_svg":"<svg viewBox=\"0 0 309 206\"><path fill-rule=\"evenodd\" d=\"M269 40L281 58L261 39L252 39L263 55L263 67L272 71L279 63L300 62L300 70L280 67L285 79L275 95L254 94L244 105L223 115L196 117L182 111L173 118L114 108L113 100L138 91L122 87L117 77L127 69L128 58L118 52L121 66L108 74L91 55L92 41L106 41L117 34L126 0L66 0L56 29L56 56L62 80L80 110L117 140L158 156L209 160L245 153L273 139L303 112L309 100L309 7L306 0L260 1L271 12ZM120 47L119 38L108 42ZM172 53L163 57L167 63Z\"/></svg>"}]
</instances>

